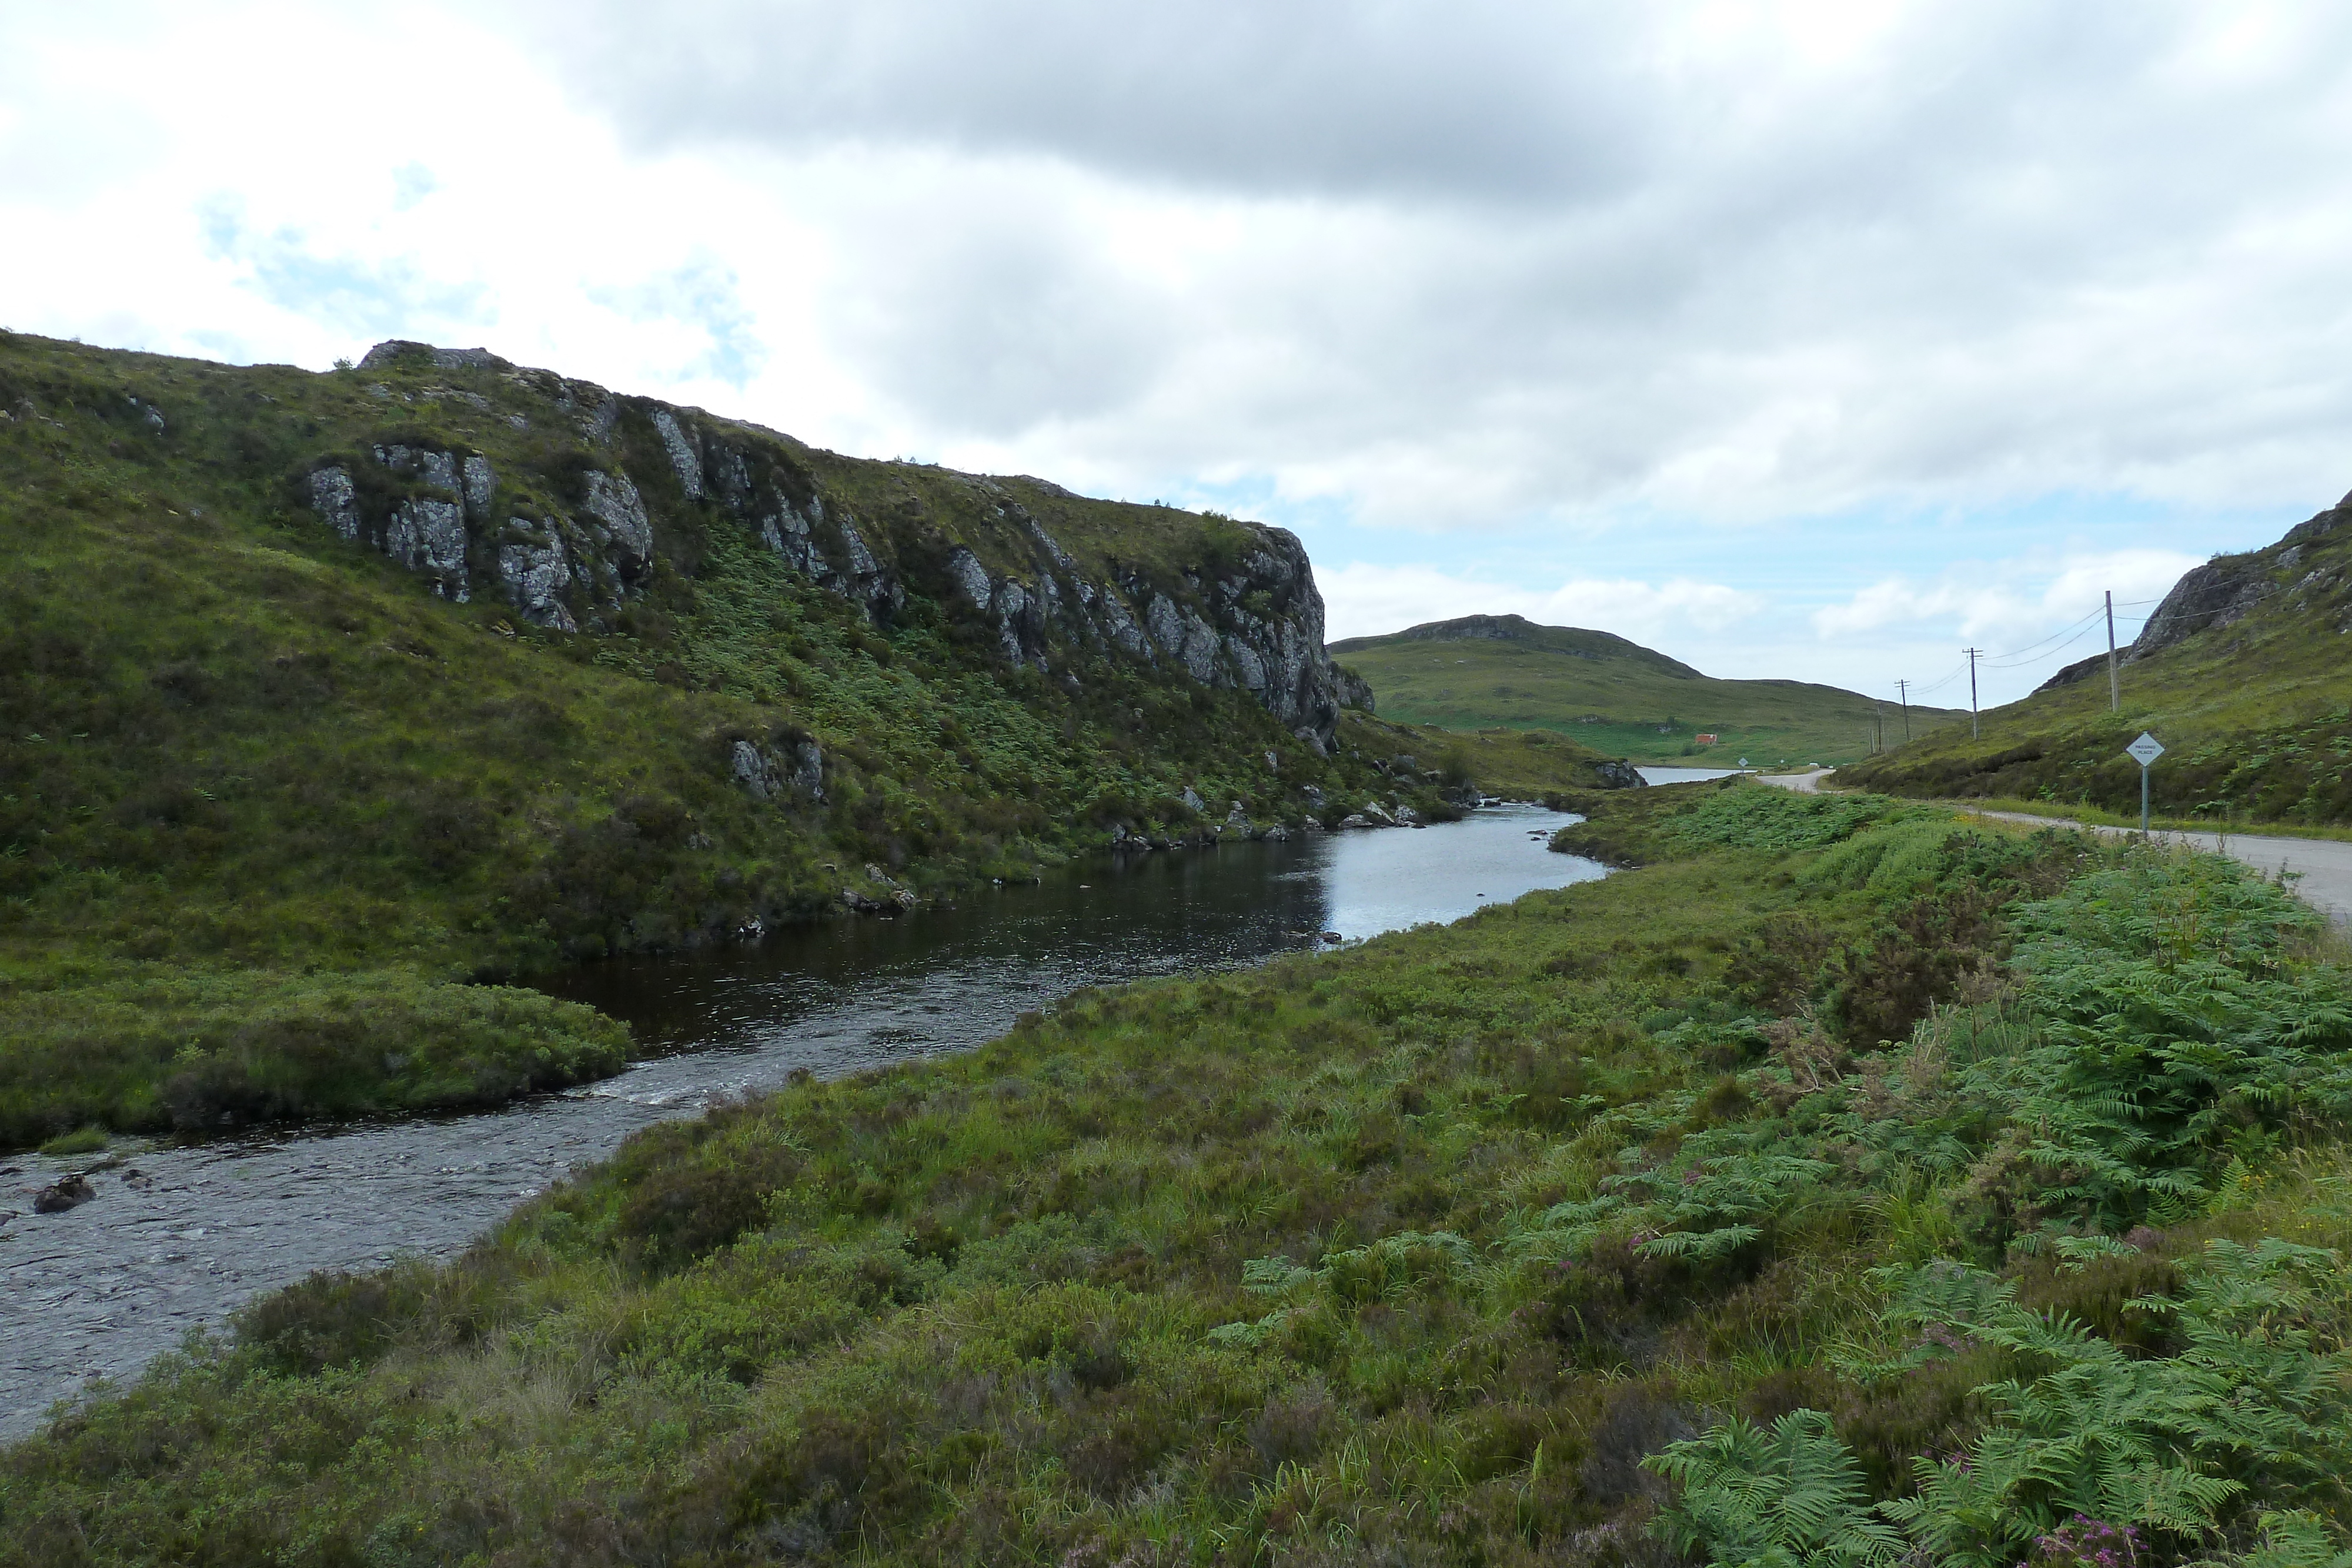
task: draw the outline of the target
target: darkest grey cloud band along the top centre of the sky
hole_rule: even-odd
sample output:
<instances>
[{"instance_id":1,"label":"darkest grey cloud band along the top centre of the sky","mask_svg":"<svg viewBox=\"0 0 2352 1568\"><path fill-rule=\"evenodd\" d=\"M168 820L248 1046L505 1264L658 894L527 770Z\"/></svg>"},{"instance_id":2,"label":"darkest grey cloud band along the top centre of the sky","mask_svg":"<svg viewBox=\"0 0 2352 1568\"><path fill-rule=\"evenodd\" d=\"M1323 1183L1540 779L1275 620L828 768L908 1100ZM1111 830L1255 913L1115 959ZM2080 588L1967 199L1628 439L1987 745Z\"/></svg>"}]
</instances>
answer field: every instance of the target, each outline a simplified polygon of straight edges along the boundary
<instances>
[{"instance_id":1,"label":"darkest grey cloud band along the top centre of the sky","mask_svg":"<svg viewBox=\"0 0 2352 1568\"><path fill-rule=\"evenodd\" d=\"M659 146L924 141L1244 190L1625 188L1656 106L1616 5L517 0Z\"/></svg>"}]
</instances>

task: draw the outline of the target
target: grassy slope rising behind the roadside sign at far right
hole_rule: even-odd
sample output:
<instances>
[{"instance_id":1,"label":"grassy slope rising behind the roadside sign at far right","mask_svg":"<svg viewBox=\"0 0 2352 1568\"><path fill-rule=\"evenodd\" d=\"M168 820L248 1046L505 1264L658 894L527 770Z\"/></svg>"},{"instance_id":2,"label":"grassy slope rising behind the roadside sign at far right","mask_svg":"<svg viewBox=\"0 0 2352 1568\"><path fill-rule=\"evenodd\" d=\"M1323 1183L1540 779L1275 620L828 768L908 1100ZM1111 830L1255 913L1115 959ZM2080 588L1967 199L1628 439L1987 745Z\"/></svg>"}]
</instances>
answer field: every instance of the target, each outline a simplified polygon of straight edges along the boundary
<instances>
[{"instance_id":1,"label":"grassy slope rising behind the roadside sign at far right","mask_svg":"<svg viewBox=\"0 0 2352 1568\"><path fill-rule=\"evenodd\" d=\"M1839 769L1842 783L1905 795L2018 797L2140 809L2124 748L2166 745L2154 809L2234 823L2352 823L2352 508L2223 555L2180 581L2122 665L2105 658L1966 726Z\"/></svg>"}]
</instances>

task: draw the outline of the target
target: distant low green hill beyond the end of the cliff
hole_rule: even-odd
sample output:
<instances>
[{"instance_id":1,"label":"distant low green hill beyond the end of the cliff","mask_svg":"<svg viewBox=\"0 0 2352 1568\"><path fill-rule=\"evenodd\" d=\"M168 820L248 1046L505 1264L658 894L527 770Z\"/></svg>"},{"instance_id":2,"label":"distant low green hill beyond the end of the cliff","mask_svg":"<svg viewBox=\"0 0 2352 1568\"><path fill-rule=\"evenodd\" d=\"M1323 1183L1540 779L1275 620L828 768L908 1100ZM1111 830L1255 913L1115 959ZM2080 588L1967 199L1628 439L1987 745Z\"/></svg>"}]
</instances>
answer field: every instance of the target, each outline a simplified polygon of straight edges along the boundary
<instances>
[{"instance_id":1,"label":"distant low green hill beyond the end of the cliff","mask_svg":"<svg viewBox=\"0 0 2352 1568\"><path fill-rule=\"evenodd\" d=\"M1331 656L1355 670L1381 712L1444 729L1552 729L1632 762L1851 762L1872 724L1903 738L1903 712L1856 691L1783 679L1715 679L1609 632L1519 616L1430 621L1388 637L1350 637ZM1966 717L1912 708L1924 733ZM1698 736L1717 736L1700 745Z\"/></svg>"}]
</instances>

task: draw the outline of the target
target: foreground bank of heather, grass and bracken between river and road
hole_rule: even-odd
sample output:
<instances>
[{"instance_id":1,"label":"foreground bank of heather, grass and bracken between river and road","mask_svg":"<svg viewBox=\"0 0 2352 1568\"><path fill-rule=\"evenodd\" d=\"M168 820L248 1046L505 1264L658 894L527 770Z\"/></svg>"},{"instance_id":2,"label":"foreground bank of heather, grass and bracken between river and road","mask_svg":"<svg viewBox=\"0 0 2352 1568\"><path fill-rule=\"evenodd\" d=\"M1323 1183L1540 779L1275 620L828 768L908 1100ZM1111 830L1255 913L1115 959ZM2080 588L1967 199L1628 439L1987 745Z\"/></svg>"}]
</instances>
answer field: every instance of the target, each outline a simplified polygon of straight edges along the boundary
<instances>
[{"instance_id":1,"label":"foreground bank of heather, grass and bracken between river and road","mask_svg":"<svg viewBox=\"0 0 2352 1568\"><path fill-rule=\"evenodd\" d=\"M2352 983L1764 785L654 1128L0 1455L0 1563L2340 1563Z\"/></svg>"}]
</instances>

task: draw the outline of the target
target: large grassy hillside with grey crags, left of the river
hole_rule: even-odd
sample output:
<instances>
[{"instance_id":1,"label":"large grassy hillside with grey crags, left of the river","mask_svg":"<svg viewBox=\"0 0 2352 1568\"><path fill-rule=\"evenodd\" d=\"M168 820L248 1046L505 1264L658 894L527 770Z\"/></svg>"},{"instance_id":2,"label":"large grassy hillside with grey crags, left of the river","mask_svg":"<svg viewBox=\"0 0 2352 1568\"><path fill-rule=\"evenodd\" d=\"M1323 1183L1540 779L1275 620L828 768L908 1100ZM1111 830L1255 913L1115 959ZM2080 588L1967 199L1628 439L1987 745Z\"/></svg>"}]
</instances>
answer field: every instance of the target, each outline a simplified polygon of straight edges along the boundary
<instances>
[{"instance_id":1,"label":"large grassy hillside with grey crags, left of the river","mask_svg":"<svg viewBox=\"0 0 2352 1568\"><path fill-rule=\"evenodd\" d=\"M416 555L459 501L402 451L468 463L461 555ZM774 515L722 505L746 473ZM642 534L590 512L621 482ZM896 912L1115 825L1200 837L1235 802L1446 811L1442 780L1385 769L1430 745L1324 755L1315 715L1270 710L1277 677L1237 684L1240 639L1319 646L1289 536L548 371L0 334L0 1147L499 1100L612 1072L628 1039L473 980ZM1080 592L1176 630L1037 609ZM1296 708L1322 677L1287 679ZM1548 757L1595 783L1590 752Z\"/></svg>"}]
</instances>

